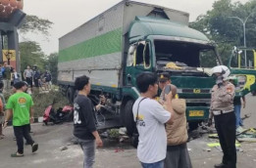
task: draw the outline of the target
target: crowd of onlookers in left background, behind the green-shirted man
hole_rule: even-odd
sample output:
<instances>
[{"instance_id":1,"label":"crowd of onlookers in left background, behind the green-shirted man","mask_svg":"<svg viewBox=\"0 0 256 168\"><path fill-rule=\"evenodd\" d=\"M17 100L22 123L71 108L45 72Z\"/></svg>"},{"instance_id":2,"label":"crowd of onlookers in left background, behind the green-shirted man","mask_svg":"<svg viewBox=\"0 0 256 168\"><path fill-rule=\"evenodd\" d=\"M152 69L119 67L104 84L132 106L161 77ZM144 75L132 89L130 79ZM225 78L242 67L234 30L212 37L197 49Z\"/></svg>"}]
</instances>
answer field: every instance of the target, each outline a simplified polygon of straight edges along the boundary
<instances>
[{"instance_id":1,"label":"crowd of onlookers in left background, behind the green-shirted man","mask_svg":"<svg viewBox=\"0 0 256 168\"><path fill-rule=\"evenodd\" d=\"M32 68L30 68L30 65L27 65L23 76L8 63L0 64L0 69L0 82L4 84L4 92L9 92L14 84L23 80L22 77L24 77L24 80L28 84L28 93L32 92L33 87L41 88L42 90L51 89L51 73L48 70L41 73L36 64Z\"/></svg>"}]
</instances>

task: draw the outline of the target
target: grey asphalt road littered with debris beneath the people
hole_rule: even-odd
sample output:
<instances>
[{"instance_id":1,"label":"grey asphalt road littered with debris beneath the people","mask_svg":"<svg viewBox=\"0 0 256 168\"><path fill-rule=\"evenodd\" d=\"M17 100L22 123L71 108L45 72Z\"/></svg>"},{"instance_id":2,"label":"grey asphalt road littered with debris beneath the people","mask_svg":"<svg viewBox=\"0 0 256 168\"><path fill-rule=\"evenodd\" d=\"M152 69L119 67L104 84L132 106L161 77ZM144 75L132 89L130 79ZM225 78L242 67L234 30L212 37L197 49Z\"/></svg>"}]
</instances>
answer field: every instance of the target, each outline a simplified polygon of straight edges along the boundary
<instances>
[{"instance_id":1,"label":"grey asphalt road littered with debris beneath the people","mask_svg":"<svg viewBox=\"0 0 256 168\"><path fill-rule=\"evenodd\" d=\"M242 109L242 115L250 115L244 120L245 128L256 127L256 97L248 95L247 105ZM31 153L30 147L25 147L25 156L12 158L10 154L17 150L13 141L13 129L4 130L5 139L0 140L0 168L71 168L82 167L82 151L72 144L72 123L62 125L42 126L32 125L32 137L39 144L39 149ZM209 139L207 134L188 143L188 150L194 168L213 168L221 162L222 152L216 147L207 147L208 143L216 140ZM128 143L104 140L104 146L96 151L95 168L139 168L136 149ZM68 147L61 150L60 147ZM207 151L210 150L210 151ZM242 143L237 151L237 168L254 168L256 164L256 143Z\"/></svg>"}]
</instances>

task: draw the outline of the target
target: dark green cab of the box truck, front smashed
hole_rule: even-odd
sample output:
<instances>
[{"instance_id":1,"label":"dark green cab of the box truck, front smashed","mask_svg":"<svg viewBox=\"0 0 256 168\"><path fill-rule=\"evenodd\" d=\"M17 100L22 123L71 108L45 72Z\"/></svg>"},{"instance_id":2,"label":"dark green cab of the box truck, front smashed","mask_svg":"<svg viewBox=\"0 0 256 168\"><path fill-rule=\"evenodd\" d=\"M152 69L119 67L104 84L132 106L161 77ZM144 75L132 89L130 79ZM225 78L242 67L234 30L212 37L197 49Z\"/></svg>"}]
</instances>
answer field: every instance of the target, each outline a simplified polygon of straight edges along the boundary
<instances>
[{"instance_id":1,"label":"dark green cab of the box truck, front smashed","mask_svg":"<svg viewBox=\"0 0 256 168\"><path fill-rule=\"evenodd\" d=\"M129 28L126 85L135 86L142 71L168 72L186 100L190 125L208 118L211 88L215 84L211 68L222 64L214 43L187 25L165 19L136 17Z\"/></svg>"}]
</instances>

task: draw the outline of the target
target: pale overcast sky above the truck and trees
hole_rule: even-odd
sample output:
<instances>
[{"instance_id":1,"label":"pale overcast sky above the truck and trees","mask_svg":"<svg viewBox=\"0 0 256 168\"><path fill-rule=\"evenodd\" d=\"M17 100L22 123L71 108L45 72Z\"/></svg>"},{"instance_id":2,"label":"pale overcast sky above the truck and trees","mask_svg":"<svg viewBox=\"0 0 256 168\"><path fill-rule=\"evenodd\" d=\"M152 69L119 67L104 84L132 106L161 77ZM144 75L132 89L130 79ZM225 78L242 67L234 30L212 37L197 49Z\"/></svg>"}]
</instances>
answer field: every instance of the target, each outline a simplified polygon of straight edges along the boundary
<instances>
[{"instance_id":1,"label":"pale overcast sky above the truck and trees","mask_svg":"<svg viewBox=\"0 0 256 168\"><path fill-rule=\"evenodd\" d=\"M41 19L52 21L48 39L42 35L27 34L21 41L33 40L41 45L42 52L49 55L58 52L58 39L82 23L89 21L121 0L24 0L24 12ZM216 0L134 0L160 5L189 13L189 21L195 21L199 15L212 9ZM234 0L237 1L237 0ZM233 2L234 2L233 1ZM240 0L244 3L248 0Z\"/></svg>"}]
</instances>

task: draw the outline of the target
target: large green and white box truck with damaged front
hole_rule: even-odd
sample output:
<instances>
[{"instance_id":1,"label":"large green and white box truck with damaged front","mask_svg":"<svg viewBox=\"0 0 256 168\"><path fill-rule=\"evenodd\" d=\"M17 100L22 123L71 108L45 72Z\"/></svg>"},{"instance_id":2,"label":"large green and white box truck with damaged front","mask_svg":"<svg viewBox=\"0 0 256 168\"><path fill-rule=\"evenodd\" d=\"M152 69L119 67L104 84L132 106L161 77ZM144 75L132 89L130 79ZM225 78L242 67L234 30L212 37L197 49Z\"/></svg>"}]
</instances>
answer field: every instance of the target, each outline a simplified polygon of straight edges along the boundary
<instances>
[{"instance_id":1,"label":"large green and white box truck with damaged front","mask_svg":"<svg viewBox=\"0 0 256 168\"><path fill-rule=\"evenodd\" d=\"M73 102L74 81L87 75L91 95L107 97L101 128L134 130L131 107L138 98L135 77L142 71L169 72L179 98L186 99L190 126L207 119L210 69L222 64L216 47L188 27L187 13L156 5L122 1L59 39L58 82Z\"/></svg>"}]
</instances>

